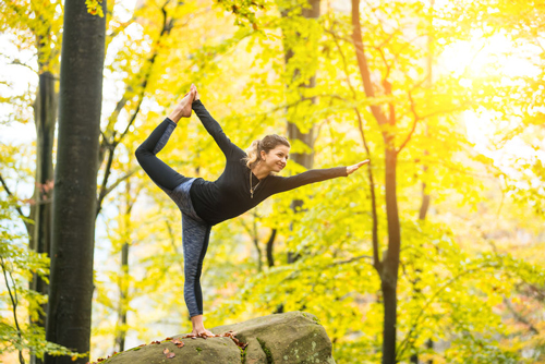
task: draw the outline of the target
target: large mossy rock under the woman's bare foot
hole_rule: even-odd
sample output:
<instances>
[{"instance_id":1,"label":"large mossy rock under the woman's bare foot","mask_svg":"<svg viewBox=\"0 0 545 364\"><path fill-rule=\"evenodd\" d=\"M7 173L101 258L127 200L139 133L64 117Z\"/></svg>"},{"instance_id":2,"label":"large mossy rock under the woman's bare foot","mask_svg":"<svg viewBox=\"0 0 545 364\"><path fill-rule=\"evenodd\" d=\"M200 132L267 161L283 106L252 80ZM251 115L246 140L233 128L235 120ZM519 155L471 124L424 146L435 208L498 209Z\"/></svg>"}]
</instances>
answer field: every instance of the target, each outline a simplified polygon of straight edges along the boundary
<instances>
[{"instance_id":1,"label":"large mossy rock under the woman's bare foot","mask_svg":"<svg viewBox=\"0 0 545 364\"><path fill-rule=\"evenodd\" d=\"M229 337L164 340L126 350L101 362L108 364L335 364L331 341L318 319L311 314L289 312L254 318L244 323L218 326L216 335L235 331L235 338L247 343L241 350ZM174 344L183 341L183 348ZM165 349L174 353L165 354Z\"/></svg>"}]
</instances>

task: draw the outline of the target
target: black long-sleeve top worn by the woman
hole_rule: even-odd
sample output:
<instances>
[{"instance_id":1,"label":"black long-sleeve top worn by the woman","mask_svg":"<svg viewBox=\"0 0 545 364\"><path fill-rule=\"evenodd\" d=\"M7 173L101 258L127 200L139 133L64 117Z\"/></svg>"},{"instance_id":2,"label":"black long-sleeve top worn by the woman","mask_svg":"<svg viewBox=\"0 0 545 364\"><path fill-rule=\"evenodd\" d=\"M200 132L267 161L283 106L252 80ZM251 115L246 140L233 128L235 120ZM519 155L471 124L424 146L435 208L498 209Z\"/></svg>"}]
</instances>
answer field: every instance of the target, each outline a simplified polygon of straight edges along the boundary
<instances>
[{"instance_id":1,"label":"black long-sleeve top worn by the woman","mask_svg":"<svg viewBox=\"0 0 545 364\"><path fill-rule=\"evenodd\" d=\"M231 143L201 100L193 102L193 110L226 156L226 168L216 181L210 182L198 178L190 190L195 213L207 223L216 225L237 217L276 193L348 175L347 167L337 167L313 169L292 177L269 174L259 181L243 160L246 153ZM250 194L250 173L252 173L252 186L255 187L259 183L254 190L253 198Z\"/></svg>"}]
</instances>

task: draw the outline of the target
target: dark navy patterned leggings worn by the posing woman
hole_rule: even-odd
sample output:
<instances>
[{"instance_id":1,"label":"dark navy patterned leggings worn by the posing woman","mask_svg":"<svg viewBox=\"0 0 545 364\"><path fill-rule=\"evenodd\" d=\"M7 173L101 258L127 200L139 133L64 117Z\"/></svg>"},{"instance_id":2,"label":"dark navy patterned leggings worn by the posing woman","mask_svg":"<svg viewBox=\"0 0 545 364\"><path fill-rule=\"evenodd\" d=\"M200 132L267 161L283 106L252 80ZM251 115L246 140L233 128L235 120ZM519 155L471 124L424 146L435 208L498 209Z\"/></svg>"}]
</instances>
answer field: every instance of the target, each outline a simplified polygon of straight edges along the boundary
<instances>
[{"instance_id":1,"label":"dark navy patterned leggings worn by the posing woman","mask_svg":"<svg viewBox=\"0 0 545 364\"><path fill-rule=\"evenodd\" d=\"M156 157L156 154L167 145L175 126L177 124L170 119L165 119L136 149L136 159L147 175L172 198L182 211L185 276L183 296L190 316L193 317L203 314L203 292L199 279L211 226L197 216L191 203L190 189L195 179L178 173Z\"/></svg>"}]
</instances>

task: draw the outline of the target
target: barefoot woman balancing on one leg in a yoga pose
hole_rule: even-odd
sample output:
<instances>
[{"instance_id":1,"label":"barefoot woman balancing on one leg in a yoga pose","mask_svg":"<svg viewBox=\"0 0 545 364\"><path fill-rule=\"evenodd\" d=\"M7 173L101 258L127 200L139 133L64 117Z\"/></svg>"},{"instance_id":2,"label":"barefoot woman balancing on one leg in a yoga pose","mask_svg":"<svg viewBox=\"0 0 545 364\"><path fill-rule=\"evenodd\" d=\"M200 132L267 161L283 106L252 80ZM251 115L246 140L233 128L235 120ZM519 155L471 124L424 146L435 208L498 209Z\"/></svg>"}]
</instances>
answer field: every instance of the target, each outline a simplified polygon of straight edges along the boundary
<instances>
[{"instance_id":1,"label":"barefoot woman balancing on one leg in a yoga pose","mask_svg":"<svg viewBox=\"0 0 545 364\"><path fill-rule=\"evenodd\" d=\"M181 118L192 109L226 156L226 169L215 182L181 175L156 157L167 144ZM193 325L193 336L214 336L203 325L201 272L208 247L210 229L237 217L268 196L337 177L347 177L368 160L351 167L310 170L292 177L278 177L288 161L290 144L278 135L252 143L244 153L226 136L199 100L195 85L136 150L136 158L152 180L172 198L182 211L184 299Z\"/></svg>"}]
</instances>

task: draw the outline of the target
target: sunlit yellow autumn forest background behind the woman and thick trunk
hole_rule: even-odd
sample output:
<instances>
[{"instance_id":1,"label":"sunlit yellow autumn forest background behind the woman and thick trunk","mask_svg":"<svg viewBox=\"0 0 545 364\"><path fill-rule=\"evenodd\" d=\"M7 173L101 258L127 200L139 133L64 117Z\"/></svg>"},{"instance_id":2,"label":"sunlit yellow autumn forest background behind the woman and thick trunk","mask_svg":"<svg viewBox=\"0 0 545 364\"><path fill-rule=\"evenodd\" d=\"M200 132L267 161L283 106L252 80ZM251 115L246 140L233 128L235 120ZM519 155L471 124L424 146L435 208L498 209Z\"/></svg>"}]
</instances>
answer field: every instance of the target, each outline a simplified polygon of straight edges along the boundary
<instances>
[{"instance_id":1,"label":"sunlit yellow autumn forest background behind the woman and thick trunk","mask_svg":"<svg viewBox=\"0 0 545 364\"><path fill-rule=\"evenodd\" d=\"M207 327L302 310L338 363L545 362L543 3L87 3L106 16L92 360L191 329L180 213L134 150L195 83L242 148L290 137L284 175L372 160L214 228ZM38 246L63 3L0 7L0 360L39 362L65 353L45 342ZM160 158L207 180L223 168L196 117Z\"/></svg>"}]
</instances>

